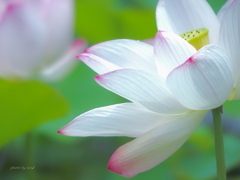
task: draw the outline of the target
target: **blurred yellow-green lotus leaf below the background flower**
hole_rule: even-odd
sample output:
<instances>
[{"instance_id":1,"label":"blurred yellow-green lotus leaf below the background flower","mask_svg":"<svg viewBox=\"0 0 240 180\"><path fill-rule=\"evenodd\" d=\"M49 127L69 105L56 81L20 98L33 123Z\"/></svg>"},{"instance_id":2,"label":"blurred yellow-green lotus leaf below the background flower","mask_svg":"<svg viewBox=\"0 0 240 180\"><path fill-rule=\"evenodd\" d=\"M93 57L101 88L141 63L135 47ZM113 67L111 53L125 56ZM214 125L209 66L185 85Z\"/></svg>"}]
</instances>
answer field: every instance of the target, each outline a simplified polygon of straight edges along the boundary
<instances>
[{"instance_id":1,"label":"blurred yellow-green lotus leaf below the background flower","mask_svg":"<svg viewBox=\"0 0 240 180\"><path fill-rule=\"evenodd\" d=\"M37 81L0 79L0 147L14 137L68 112L68 102Z\"/></svg>"}]
</instances>

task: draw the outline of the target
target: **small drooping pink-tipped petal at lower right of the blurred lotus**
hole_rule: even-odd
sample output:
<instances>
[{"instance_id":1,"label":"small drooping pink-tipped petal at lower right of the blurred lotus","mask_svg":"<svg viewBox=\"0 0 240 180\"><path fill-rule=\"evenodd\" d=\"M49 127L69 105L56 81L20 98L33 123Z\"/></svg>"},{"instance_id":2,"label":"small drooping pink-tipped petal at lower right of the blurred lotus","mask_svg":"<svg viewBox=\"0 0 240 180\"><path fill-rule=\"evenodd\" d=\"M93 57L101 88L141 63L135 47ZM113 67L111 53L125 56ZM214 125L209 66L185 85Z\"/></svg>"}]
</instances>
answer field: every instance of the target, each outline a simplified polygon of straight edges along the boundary
<instances>
[{"instance_id":1,"label":"small drooping pink-tipped petal at lower right of the blurred lotus","mask_svg":"<svg viewBox=\"0 0 240 180\"><path fill-rule=\"evenodd\" d=\"M75 55L86 47L84 40L78 39L72 43L68 51L57 61L46 66L40 78L44 81L56 81L67 75L76 64Z\"/></svg>"}]
</instances>

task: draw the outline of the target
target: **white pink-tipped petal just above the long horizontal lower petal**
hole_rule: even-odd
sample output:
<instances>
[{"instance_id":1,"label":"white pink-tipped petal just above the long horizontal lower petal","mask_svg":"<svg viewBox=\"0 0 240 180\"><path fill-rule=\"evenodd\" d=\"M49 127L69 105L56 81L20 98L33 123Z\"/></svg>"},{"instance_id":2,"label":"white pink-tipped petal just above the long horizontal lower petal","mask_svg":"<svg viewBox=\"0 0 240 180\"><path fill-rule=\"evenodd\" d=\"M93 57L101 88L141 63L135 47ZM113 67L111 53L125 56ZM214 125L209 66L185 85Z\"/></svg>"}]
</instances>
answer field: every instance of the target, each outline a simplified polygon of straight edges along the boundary
<instances>
[{"instance_id":1,"label":"white pink-tipped petal just above the long horizontal lower petal","mask_svg":"<svg viewBox=\"0 0 240 180\"><path fill-rule=\"evenodd\" d=\"M144 71L122 69L96 76L95 80L104 88L157 113L189 111L166 89L162 79Z\"/></svg>"}]
</instances>

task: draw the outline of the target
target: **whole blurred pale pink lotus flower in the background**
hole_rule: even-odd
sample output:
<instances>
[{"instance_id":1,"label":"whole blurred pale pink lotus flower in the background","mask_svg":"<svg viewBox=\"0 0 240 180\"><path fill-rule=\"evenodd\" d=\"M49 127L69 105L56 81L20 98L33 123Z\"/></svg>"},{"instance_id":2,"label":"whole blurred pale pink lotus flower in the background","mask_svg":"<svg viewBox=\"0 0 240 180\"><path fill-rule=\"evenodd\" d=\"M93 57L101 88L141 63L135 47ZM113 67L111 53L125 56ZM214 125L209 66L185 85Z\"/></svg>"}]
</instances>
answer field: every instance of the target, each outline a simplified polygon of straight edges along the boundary
<instances>
[{"instance_id":1,"label":"whole blurred pale pink lotus flower in the background","mask_svg":"<svg viewBox=\"0 0 240 180\"><path fill-rule=\"evenodd\" d=\"M0 77L61 77L85 46L72 42L72 27L72 0L2 0Z\"/></svg>"}]
</instances>

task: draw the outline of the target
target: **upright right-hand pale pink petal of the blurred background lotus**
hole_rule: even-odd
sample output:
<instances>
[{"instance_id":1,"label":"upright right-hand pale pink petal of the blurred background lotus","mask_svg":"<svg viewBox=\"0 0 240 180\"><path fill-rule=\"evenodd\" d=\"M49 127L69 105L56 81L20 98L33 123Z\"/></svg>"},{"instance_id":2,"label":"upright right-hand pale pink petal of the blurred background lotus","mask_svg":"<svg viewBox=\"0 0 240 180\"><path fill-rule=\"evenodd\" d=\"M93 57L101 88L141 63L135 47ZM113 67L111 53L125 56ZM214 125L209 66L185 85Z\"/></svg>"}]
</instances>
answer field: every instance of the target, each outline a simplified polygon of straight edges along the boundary
<instances>
[{"instance_id":1,"label":"upright right-hand pale pink petal of the blurred background lotus","mask_svg":"<svg viewBox=\"0 0 240 180\"><path fill-rule=\"evenodd\" d=\"M41 0L39 3L48 28L45 59L47 62L53 62L68 49L73 41L74 2L73 0Z\"/></svg>"}]
</instances>

